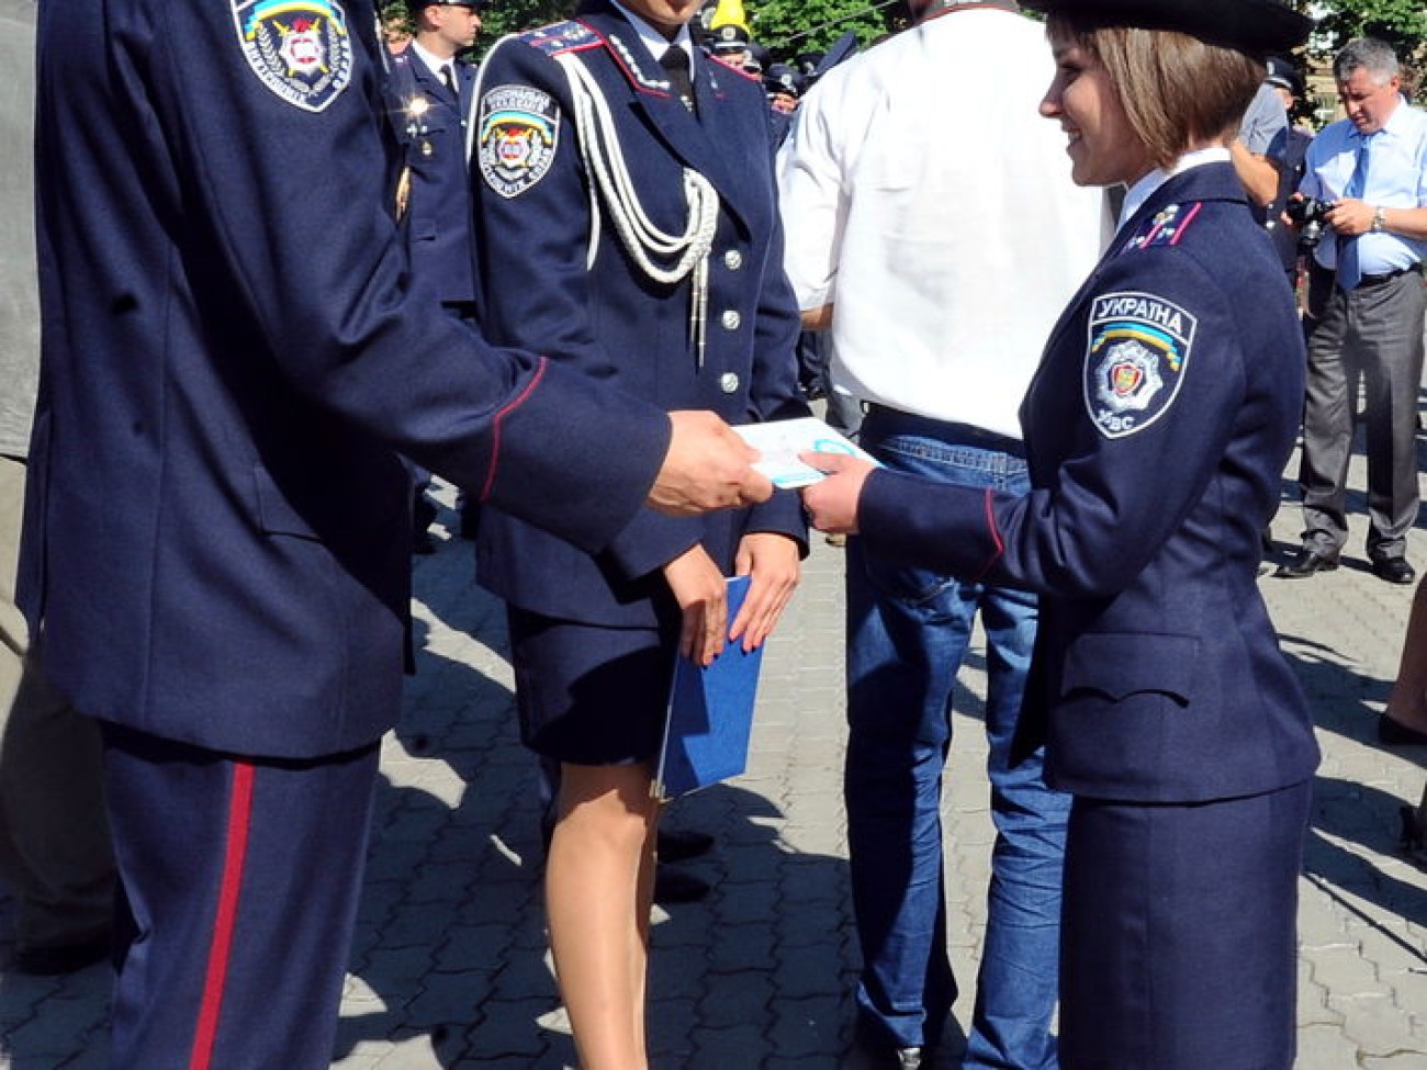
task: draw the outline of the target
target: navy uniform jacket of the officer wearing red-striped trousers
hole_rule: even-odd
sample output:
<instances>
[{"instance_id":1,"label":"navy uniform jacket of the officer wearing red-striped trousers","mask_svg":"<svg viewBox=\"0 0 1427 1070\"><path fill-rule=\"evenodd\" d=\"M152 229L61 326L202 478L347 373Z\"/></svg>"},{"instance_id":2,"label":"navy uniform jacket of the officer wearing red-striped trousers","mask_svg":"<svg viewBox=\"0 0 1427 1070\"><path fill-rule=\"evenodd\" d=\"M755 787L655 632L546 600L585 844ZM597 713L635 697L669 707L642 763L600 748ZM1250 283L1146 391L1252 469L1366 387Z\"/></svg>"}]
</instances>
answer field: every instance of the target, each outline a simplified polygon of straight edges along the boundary
<instances>
[{"instance_id":1,"label":"navy uniform jacket of the officer wearing red-striped trousers","mask_svg":"<svg viewBox=\"0 0 1427 1070\"><path fill-rule=\"evenodd\" d=\"M90 715L258 756L365 745L400 709L397 452L589 551L659 468L665 414L411 282L374 30L332 0L40 9L20 595Z\"/></svg>"}]
</instances>

